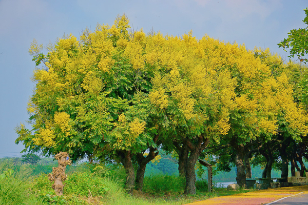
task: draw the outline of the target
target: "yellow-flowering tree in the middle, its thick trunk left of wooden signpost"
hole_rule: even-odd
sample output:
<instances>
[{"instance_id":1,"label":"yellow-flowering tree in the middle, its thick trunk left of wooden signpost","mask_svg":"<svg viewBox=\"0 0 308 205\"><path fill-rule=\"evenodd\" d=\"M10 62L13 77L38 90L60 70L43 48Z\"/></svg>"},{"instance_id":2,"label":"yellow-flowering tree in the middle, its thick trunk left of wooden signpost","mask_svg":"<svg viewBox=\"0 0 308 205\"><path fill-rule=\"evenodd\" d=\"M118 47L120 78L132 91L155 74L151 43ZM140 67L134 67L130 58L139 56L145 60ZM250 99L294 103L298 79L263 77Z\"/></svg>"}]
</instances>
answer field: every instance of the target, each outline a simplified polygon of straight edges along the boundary
<instances>
[{"instance_id":1,"label":"yellow-flowering tree in the middle, its thick trunk left of wooden signpost","mask_svg":"<svg viewBox=\"0 0 308 205\"><path fill-rule=\"evenodd\" d=\"M197 40L191 32L182 37L154 33L146 48L146 62L159 69L149 98L164 147L178 145L186 159L190 151L185 194L196 193L196 161L210 138L219 140L228 131L235 105L236 80L227 70L209 66L204 38Z\"/></svg>"}]
</instances>

